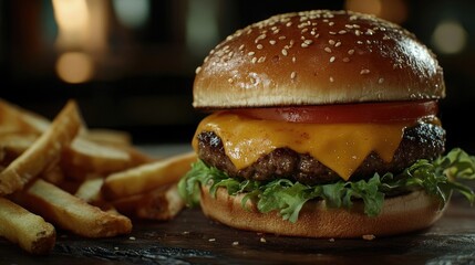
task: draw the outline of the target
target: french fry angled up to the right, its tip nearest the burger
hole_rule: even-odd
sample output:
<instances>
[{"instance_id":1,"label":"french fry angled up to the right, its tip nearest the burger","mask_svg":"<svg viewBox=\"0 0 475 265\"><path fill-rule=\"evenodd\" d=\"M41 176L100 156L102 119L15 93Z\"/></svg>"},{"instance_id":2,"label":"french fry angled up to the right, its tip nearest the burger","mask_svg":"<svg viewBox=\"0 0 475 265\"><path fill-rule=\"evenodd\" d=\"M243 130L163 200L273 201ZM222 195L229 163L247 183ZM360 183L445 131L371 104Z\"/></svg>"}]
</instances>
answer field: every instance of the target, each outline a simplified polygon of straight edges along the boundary
<instances>
[{"instance_id":1,"label":"french fry angled up to the right, its tip nearest the burger","mask_svg":"<svg viewBox=\"0 0 475 265\"><path fill-rule=\"evenodd\" d=\"M158 187L178 182L196 161L195 152L186 152L110 174L102 186L106 200L136 195Z\"/></svg>"}]
</instances>

